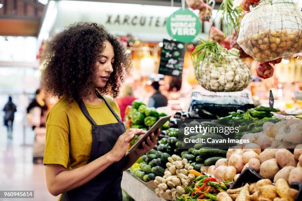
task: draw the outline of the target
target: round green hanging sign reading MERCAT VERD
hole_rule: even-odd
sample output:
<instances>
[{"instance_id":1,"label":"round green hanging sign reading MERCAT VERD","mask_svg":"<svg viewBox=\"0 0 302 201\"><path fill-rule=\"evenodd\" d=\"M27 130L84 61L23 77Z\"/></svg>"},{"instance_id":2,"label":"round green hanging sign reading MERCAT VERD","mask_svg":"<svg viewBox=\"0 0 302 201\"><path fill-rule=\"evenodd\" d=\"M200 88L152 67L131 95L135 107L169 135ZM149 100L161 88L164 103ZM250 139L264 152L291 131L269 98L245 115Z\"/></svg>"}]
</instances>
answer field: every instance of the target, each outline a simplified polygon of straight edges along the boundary
<instances>
[{"instance_id":1,"label":"round green hanging sign reading MERCAT VERD","mask_svg":"<svg viewBox=\"0 0 302 201\"><path fill-rule=\"evenodd\" d=\"M180 42L191 42L200 32L199 18L188 8L180 8L167 19L169 35Z\"/></svg>"}]
</instances>

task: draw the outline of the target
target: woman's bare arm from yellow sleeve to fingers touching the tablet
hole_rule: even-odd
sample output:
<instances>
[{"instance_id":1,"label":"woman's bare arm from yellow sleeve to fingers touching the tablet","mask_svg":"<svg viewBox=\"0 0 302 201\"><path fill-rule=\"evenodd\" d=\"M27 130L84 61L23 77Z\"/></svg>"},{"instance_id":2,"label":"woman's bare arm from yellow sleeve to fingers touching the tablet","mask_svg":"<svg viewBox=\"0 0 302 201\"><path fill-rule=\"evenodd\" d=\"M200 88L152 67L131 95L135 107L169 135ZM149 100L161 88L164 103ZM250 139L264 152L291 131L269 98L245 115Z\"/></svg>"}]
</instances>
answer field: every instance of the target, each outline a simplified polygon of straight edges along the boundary
<instances>
[{"instance_id":1,"label":"woman's bare arm from yellow sleeve to fingers touching the tablet","mask_svg":"<svg viewBox=\"0 0 302 201\"><path fill-rule=\"evenodd\" d=\"M142 132L141 129L129 129L118 137L110 152L82 167L67 170L62 165L46 165L48 191L53 196L57 196L87 183L108 166L121 160L126 153L128 143L134 138L135 134L141 134Z\"/></svg>"}]
</instances>

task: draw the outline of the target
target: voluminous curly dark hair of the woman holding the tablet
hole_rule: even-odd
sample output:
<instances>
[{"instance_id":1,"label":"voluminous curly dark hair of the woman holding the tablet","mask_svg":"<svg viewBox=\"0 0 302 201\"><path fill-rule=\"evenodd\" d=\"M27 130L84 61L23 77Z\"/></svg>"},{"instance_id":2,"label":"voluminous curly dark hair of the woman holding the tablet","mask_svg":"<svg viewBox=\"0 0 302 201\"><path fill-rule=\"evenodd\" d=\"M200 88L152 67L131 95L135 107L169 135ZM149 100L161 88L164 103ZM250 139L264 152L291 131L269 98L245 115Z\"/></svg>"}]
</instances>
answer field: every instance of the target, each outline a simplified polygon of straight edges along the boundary
<instances>
[{"instance_id":1,"label":"voluminous curly dark hair of the woman holding the tablet","mask_svg":"<svg viewBox=\"0 0 302 201\"><path fill-rule=\"evenodd\" d=\"M130 71L130 59L125 48L104 26L87 22L70 25L46 44L42 70L42 86L46 92L59 98L67 96L70 101L88 96L97 57L106 41L114 50L113 72L105 87L98 91L115 99L125 72Z\"/></svg>"}]
</instances>

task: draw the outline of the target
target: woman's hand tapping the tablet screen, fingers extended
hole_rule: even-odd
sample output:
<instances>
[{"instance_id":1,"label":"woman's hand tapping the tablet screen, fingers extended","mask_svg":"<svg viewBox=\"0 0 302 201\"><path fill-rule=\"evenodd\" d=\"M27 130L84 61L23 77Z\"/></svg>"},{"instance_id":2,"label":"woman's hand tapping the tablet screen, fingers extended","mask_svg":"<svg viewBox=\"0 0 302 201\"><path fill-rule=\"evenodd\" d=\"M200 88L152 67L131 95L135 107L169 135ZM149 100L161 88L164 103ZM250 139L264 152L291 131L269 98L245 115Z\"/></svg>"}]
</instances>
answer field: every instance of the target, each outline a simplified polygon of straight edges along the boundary
<instances>
[{"instance_id":1,"label":"woman's hand tapping the tablet screen, fingers extended","mask_svg":"<svg viewBox=\"0 0 302 201\"><path fill-rule=\"evenodd\" d=\"M135 135L145 133L146 131L143 131L142 129L129 129L125 133L121 134L115 142L112 150L109 152L110 158L113 162L117 162L125 156L128 149L128 143L135 137Z\"/></svg>"}]
</instances>

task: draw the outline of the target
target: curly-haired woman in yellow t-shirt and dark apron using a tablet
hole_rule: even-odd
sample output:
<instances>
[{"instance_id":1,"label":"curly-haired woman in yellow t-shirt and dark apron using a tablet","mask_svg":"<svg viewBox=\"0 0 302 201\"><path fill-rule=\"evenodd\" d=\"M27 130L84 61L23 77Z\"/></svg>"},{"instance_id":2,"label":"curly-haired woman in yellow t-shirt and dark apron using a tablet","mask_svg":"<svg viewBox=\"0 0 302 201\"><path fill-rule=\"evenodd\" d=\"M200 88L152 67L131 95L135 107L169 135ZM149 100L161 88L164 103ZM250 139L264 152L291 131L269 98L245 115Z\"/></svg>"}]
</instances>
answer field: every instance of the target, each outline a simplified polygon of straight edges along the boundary
<instances>
[{"instance_id":1,"label":"curly-haired woman in yellow t-shirt and dark apron using a tablet","mask_svg":"<svg viewBox=\"0 0 302 201\"><path fill-rule=\"evenodd\" d=\"M156 144L151 134L127 155L141 129L125 131L116 98L130 61L103 26L79 23L47 45L42 80L46 92L61 97L46 121L43 164L49 192L61 201L121 201L122 171Z\"/></svg>"}]
</instances>

